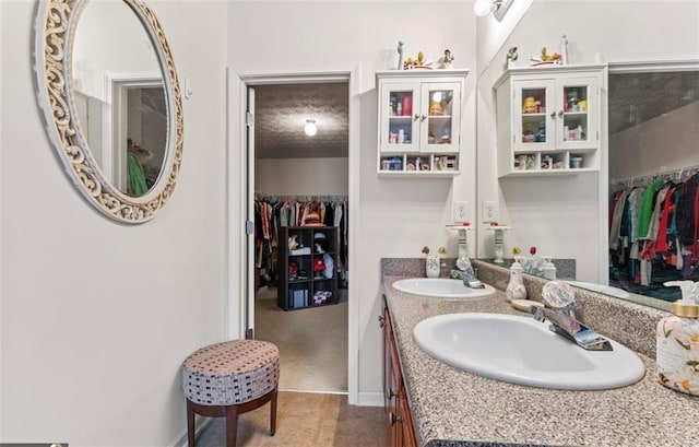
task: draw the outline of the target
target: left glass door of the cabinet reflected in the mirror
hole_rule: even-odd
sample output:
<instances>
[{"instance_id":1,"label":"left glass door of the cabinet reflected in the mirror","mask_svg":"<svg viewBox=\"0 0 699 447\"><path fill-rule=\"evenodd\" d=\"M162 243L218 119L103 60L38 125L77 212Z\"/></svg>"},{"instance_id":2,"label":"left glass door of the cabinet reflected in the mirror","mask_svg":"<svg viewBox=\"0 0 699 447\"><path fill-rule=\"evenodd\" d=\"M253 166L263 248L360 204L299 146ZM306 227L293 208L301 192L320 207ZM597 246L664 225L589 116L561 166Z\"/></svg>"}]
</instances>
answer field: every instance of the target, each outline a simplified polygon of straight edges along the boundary
<instances>
[{"instance_id":1,"label":"left glass door of the cabinet reflected in the mirror","mask_svg":"<svg viewBox=\"0 0 699 447\"><path fill-rule=\"evenodd\" d=\"M516 82L514 152L554 148L555 101L553 80ZM554 115L552 115L554 114Z\"/></svg>"}]
</instances>

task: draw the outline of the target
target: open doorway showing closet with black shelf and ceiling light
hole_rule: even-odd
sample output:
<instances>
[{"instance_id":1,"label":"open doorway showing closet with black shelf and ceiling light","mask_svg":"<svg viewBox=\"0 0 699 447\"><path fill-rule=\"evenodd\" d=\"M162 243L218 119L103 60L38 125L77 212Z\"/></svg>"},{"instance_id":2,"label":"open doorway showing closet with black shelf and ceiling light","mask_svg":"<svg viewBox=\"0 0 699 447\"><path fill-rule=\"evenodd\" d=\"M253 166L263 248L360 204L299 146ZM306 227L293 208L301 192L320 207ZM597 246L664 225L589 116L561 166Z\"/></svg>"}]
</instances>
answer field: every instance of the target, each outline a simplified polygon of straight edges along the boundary
<instances>
[{"instance_id":1,"label":"open doorway showing closet with black shelf and ceiling light","mask_svg":"<svg viewBox=\"0 0 699 447\"><path fill-rule=\"evenodd\" d=\"M281 390L348 391L348 78L248 84L248 327L280 348Z\"/></svg>"}]
</instances>

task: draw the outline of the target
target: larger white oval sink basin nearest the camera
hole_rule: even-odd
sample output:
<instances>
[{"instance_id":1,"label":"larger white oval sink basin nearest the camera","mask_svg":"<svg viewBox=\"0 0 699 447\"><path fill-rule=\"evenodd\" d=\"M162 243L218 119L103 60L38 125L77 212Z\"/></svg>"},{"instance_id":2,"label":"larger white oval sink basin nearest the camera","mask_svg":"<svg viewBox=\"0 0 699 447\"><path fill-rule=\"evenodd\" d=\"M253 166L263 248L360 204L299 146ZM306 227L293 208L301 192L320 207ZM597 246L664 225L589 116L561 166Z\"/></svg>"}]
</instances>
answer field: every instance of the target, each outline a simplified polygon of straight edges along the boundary
<instances>
[{"instance_id":1,"label":"larger white oval sink basin nearest the camera","mask_svg":"<svg viewBox=\"0 0 699 447\"><path fill-rule=\"evenodd\" d=\"M479 376L538 388L597 390L637 383L645 369L636 353L585 351L548 330L549 324L500 314L447 314L413 330L430 356Z\"/></svg>"}]
</instances>

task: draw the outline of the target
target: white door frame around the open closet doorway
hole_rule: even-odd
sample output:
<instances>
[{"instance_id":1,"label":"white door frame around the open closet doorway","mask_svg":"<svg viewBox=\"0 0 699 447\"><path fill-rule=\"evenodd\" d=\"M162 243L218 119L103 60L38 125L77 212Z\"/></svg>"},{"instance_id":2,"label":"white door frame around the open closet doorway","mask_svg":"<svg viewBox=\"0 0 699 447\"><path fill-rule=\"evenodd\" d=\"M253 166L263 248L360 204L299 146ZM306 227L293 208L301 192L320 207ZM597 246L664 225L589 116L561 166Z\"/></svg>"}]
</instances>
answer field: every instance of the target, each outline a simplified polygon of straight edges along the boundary
<instances>
[{"instance_id":1,"label":"white door frame around the open closet doorway","mask_svg":"<svg viewBox=\"0 0 699 447\"><path fill-rule=\"evenodd\" d=\"M248 254L246 247L252 244L252 235L245 234L245 220L249 201L253 200L254 185L248 189L249 157L246 141L247 92L249 86L286 84L286 83L321 83L345 80L348 82L348 252L352 254L347 266L348 311L347 311L347 398L350 404L358 403L359 395L359 294L354 273L358 271L357 259L360 246L357 243L359 223L359 176L360 176L360 73L362 66L346 66L333 70L308 71L250 71L247 73L227 69L228 119L227 128L227 243L226 243L226 311L225 330L228 339L245 338L251 274L247 274ZM250 192L247 192L250 191ZM246 198L246 195L249 197ZM354 272L354 273L353 273ZM241 296L247 297L240 299Z\"/></svg>"}]
</instances>

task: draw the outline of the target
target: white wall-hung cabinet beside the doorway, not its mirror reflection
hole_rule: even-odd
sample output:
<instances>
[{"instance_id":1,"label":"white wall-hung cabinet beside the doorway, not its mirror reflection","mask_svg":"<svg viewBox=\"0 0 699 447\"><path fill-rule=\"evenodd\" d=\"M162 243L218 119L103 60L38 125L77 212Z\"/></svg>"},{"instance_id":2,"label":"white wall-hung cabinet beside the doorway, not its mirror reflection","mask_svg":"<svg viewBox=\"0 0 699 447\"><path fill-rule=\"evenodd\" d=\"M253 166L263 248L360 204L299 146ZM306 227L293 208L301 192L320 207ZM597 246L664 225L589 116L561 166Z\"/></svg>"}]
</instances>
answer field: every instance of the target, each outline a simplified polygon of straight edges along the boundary
<instances>
[{"instance_id":1,"label":"white wall-hung cabinet beside the doorway, not its mirror reflection","mask_svg":"<svg viewBox=\"0 0 699 447\"><path fill-rule=\"evenodd\" d=\"M467 74L467 70L377 72L379 175L459 174L462 92Z\"/></svg>"}]
</instances>

